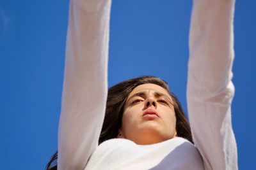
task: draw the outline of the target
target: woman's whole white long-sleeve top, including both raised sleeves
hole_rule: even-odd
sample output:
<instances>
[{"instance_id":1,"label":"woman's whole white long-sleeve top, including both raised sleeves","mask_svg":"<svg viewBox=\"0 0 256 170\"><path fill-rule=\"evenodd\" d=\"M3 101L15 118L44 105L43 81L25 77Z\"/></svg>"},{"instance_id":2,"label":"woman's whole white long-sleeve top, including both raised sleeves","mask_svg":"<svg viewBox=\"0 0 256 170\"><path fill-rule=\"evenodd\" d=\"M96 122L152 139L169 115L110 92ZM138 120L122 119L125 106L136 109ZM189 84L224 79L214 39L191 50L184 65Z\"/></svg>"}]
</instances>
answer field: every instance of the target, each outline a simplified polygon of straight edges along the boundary
<instances>
[{"instance_id":1,"label":"woman's whole white long-sleeve top, including both raised sleeves","mask_svg":"<svg viewBox=\"0 0 256 170\"><path fill-rule=\"evenodd\" d=\"M110 9L111 0L70 0L58 169L237 169L230 118L234 0L194 0L187 99L195 145L173 138L153 145L110 139L98 146Z\"/></svg>"}]
</instances>

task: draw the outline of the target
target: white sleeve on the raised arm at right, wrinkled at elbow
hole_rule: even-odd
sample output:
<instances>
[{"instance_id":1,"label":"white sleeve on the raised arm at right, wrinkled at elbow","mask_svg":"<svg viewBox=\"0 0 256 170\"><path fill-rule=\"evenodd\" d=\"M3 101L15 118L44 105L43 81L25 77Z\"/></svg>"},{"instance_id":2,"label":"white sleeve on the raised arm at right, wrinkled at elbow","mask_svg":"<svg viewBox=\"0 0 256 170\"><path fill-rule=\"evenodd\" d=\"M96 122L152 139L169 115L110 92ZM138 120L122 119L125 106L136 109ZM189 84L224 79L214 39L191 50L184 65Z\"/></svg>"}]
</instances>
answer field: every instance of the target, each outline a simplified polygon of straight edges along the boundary
<instances>
[{"instance_id":1,"label":"white sleeve on the raised arm at right, wrinkled at elbow","mask_svg":"<svg viewBox=\"0 0 256 170\"><path fill-rule=\"evenodd\" d=\"M194 0L189 36L188 112L205 169L237 169L231 124L234 0Z\"/></svg>"}]
</instances>

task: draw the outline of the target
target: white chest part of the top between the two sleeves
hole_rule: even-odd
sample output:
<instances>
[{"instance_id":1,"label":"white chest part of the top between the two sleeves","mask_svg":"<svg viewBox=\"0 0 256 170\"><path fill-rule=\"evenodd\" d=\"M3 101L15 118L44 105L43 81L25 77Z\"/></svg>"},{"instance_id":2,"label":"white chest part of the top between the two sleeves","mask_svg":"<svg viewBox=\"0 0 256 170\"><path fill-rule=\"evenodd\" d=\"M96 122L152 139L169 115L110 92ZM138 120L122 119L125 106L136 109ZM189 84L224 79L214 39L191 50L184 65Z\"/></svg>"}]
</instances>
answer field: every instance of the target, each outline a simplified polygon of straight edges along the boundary
<instances>
[{"instance_id":1,"label":"white chest part of the top between the two sleeves","mask_svg":"<svg viewBox=\"0 0 256 170\"><path fill-rule=\"evenodd\" d=\"M128 139L110 139L93 152L85 170L151 169L204 170L198 150L184 138L153 145L136 145Z\"/></svg>"}]
</instances>

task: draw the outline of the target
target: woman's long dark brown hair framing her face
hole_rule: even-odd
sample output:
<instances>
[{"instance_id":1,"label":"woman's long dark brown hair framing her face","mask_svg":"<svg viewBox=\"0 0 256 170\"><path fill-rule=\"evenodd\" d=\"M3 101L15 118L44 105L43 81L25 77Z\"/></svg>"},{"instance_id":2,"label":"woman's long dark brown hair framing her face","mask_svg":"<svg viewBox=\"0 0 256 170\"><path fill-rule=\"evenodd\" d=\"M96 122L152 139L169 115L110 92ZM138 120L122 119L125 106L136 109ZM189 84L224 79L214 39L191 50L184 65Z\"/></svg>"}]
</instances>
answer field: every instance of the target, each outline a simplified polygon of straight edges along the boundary
<instances>
[{"instance_id":1,"label":"woman's long dark brown hair framing her face","mask_svg":"<svg viewBox=\"0 0 256 170\"><path fill-rule=\"evenodd\" d=\"M106 104L106 113L102 130L100 132L99 144L108 139L113 139L118 136L118 129L120 129L122 125L124 104L126 102L127 97L135 87L147 83L159 85L170 94L173 100L173 107L176 116L177 136L188 139L188 141L193 143L188 118L184 114L184 111L182 110L182 107L177 97L172 92L170 92L168 83L155 76L141 76L138 78L132 78L129 80L122 81L114 85L113 87L109 88L108 99ZM57 158L58 152L52 155L51 160L46 166L47 170L54 170L53 168L57 167L56 165L51 167L51 164L53 162L56 162Z\"/></svg>"}]
</instances>

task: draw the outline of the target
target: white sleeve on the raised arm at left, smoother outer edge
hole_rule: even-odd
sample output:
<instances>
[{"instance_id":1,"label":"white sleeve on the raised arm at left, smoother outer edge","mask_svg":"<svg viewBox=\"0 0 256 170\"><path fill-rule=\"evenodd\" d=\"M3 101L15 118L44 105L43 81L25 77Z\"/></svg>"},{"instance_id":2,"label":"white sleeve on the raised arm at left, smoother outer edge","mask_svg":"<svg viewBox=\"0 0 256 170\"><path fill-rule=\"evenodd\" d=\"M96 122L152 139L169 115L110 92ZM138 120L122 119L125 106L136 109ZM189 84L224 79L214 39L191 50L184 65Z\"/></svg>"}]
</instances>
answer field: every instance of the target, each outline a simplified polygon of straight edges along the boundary
<instances>
[{"instance_id":1,"label":"white sleeve on the raised arm at left, smoother outer edge","mask_svg":"<svg viewBox=\"0 0 256 170\"><path fill-rule=\"evenodd\" d=\"M98 145L108 93L111 0L70 1L58 169L84 169Z\"/></svg>"}]
</instances>

